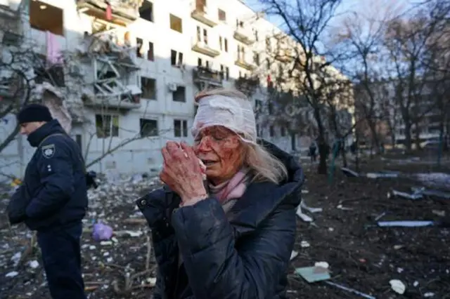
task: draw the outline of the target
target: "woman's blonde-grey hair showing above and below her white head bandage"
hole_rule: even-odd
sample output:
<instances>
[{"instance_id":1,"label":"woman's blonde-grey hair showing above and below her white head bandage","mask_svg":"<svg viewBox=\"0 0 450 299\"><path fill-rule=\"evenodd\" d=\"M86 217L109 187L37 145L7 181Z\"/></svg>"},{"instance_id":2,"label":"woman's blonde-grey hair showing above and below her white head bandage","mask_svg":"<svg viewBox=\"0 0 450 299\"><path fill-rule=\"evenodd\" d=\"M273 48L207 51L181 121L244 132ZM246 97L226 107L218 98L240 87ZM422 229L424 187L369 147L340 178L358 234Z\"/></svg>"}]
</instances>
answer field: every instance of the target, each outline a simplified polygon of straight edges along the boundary
<instances>
[{"instance_id":1,"label":"woman's blonde-grey hair showing above and below her white head bandage","mask_svg":"<svg viewBox=\"0 0 450 299\"><path fill-rule=\"evenodd\" d=\"M200 91L200 93L195 95L195 102L210 95L223 95L229 98L249 100L244 93L235 89L218 88ZM245 150L243 163L251 169L254 175L252 181L269 181L279 184L285 178L288 178L288 171L284 164L267 152L264 147L249 142L243 142L243 147Z\"/></svg>"}]
</instances>

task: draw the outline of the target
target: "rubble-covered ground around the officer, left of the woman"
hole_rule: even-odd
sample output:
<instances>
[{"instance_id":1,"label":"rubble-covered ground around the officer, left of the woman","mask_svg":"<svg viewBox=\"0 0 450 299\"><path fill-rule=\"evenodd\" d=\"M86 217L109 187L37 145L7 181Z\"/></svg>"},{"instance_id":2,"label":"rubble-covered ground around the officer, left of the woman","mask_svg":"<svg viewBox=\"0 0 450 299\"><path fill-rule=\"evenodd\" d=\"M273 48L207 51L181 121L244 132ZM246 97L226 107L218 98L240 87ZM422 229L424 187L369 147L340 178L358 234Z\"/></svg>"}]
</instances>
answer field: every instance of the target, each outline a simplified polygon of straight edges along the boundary
<instances>
[{"instance_id":1,"label":"rubble-covered ground around the officer, left of the woman","mask_svg":"<svg viewBox=\"0 0 450 299\"><path fill-rule=\"evenodd\" d=\"M82 235L88 298L134 298L155 286L155 260L148 226L134 201L160 187L149 175L103 175L88 192ZM8 190L6 186L5 190ZM0 192L5 194L6 192ZM24 225L8 226L0 197L0 297L50 298L39 248ZM32 246L30 244L32 243Z\"/></svg>"}]
</instances>

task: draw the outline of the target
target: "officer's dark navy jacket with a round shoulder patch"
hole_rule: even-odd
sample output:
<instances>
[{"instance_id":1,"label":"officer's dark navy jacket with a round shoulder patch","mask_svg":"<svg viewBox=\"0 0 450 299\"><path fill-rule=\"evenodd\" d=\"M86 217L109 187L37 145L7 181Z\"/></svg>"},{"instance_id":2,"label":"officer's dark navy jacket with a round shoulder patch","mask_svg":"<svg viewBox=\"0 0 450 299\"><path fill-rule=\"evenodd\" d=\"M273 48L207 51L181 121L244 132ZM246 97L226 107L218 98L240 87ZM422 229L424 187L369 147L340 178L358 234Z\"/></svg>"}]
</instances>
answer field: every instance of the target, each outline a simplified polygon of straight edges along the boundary
<instances>
[{"instance_id":1,"label":"officer's dark navy jacket with a round shoulder patch","mask_svg":"<svg viewBox=\"0 0 450 299\"><path fill-rule=\"evenodd\" d=\"M28 135L28 141L37 149L25 170L25 224L30 230L46 230L82 220L88 201L77 142L56 119Z\"/></svg>"}]
</instances>

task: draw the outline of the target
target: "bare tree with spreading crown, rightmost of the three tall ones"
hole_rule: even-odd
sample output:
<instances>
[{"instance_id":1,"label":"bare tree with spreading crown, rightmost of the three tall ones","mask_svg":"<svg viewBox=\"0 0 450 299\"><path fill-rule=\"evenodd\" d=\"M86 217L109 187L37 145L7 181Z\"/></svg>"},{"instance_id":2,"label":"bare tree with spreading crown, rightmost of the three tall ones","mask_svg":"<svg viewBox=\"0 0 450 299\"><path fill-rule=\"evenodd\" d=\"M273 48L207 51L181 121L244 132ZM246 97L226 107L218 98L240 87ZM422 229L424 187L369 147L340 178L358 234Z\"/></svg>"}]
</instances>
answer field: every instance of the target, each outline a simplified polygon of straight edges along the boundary
<instances>
[{"instance_id":1,"label":"bare tree with spreading crown, rightmost of the three tall ones","mask_svg":"<svg viewBox=\"0 0 450 299\"><path fill-rule=\"evenodd\" d=\"M420 9L411 18L390 21L385 32L385 47L392 62L394 100L404 124L407 150L411 150L413 139L420 147L422 121L436 107L428 89L434 72L428 62L440 55L430 51L430 45L440 35L443 18L436 9L441 6L433 5L432 9Z\"/></svg>"}]
</instances>

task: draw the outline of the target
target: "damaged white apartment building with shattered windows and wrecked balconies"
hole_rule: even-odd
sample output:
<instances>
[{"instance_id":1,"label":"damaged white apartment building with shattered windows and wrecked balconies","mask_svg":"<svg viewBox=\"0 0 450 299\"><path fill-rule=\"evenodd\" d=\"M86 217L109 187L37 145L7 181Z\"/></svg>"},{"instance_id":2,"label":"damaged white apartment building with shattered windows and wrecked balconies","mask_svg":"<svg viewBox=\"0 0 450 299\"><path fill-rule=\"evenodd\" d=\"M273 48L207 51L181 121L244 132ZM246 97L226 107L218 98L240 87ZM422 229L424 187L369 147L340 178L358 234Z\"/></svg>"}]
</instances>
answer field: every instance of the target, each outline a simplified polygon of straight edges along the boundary
<instances>
[{"instance_id":1,"label":"damaged white apartment building with shattered windows and wrecked balconies","mask_svg":"<svg viewBox=\"0 0 450 299\"><path fill-rule=\"evenodd\" d=\"M204 88L261 82L249 95L255 105L266 100L269 76L258 70L267 41L279 29L240 0L0 4L16 13L16 42L33 49L32 100L51 108L82 147L86 163L96 162L94 171L158 169L167 140L192 141L193 95ZM14 126L13 117L8 126ZM259 126L260 135L285 150L309 145L282 128ZM26 143L18 138L2 156L26 164L32 154ZM10 172L21 175L23 167Z\"/></svg>"}]
</instances>

